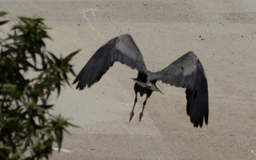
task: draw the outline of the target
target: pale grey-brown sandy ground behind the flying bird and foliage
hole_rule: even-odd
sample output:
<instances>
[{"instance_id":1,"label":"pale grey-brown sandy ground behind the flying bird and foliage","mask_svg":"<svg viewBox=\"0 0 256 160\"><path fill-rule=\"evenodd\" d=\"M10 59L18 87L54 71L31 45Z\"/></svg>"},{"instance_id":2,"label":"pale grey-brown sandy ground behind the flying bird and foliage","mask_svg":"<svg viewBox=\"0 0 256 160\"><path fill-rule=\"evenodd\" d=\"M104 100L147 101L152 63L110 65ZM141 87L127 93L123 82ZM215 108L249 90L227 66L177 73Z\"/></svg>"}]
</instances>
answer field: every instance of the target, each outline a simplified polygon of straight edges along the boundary
<instances>
[{"instance_id":1,"label":"pale grey-brown sandy ground behind the flying bird and foliage","mask_svg":"<svg viewBox=\"0 0 256 160\"><path fill-rule=\"evenodd\" d=\"M129 123L137 71L115 63L89 89L66 86L54 113L71 118L60 152L51 159L256 159L256 1L2 0L8 25L40 17L52 28L48 50L73 60L76 73L107 40L131 34L147 69L158 71L193 50L204 66L209 124L194 128L184 89L157 83L164 93L139 97ZM8 32L8 27L5 26ZM201 37L200 37L201 36ZM70 77L73 82L75 77Z\"/></svg>"}]
</instances>

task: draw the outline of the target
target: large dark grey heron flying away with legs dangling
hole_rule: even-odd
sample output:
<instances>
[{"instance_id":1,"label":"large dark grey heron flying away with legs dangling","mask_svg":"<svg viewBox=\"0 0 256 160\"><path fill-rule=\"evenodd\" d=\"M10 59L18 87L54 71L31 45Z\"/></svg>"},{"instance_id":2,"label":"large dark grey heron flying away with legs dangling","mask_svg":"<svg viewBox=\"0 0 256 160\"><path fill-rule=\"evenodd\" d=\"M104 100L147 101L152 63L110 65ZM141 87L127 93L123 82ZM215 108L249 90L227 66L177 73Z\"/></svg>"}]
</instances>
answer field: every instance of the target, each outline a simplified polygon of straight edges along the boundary
<instances>
[{"instance_id":1,"label":"large dark grey heron flying away with legs dangling","mask_svg":"<svg viewBox=\"0 0 256 160\"><path fill-rule=\"evenodd\" d=\"M139 92L140 96L146 94L142 112L139 115L140 120L147 98L153 91L162 93L156 86L157 81L162 81L170 86L186 88L186 112L194 127L199 125L202 127L203 120L206 125L208 124L207 79L203 66L193 51L187 52L163 70L151 72L146 69L140 50L133 38L128 34L121 35L108 41L95 52L77 75L73 83L79 81L76 89L91 87L116 61L138 70L138 77L133 78L135 82L133 110L137 102L137 93ZM130 113L130 121L134 115L133 110Z\"/></svg>"}]
</instances>

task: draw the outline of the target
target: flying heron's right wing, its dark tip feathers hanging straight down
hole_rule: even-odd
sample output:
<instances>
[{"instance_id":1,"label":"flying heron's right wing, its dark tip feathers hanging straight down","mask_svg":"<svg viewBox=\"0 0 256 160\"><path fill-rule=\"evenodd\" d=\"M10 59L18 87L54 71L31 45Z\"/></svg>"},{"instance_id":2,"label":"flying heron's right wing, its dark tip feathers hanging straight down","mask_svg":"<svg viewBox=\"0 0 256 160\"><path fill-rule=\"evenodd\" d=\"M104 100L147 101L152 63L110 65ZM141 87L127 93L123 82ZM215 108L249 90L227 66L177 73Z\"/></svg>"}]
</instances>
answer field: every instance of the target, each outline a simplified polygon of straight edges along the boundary
<instances>
[{"instance_id":1,"label":"flying heron's right wing, its dark tip feathers hanging straight down","mask_svg":"<svg viewBox=\"0 0 256 160\"><path fill-rule=\"evenodd\" d=\"M161 71L150 72L151 80L186 88L187 115L195 127L208 123L208 86L203 66L193 51Z\"/></svg>"}]
</instances>

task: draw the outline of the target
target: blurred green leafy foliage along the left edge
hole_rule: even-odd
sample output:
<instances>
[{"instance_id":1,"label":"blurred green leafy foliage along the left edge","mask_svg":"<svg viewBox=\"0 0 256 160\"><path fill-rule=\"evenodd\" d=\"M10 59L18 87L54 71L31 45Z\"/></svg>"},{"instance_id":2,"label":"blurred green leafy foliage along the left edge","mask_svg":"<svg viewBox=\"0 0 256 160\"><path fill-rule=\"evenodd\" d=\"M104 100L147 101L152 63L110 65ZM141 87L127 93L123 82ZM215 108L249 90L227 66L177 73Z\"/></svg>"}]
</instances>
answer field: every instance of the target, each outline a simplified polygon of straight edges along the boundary
<instances>
[{"instance_id":1,"label":"blurred green leafy foliage along the left edge","mask_svg":"<svg viewBox=\"0 0 256 160\"><path fill-rule=\"evenodd\" d=\"M55 57L45 51L43 39L50 37L43 19L19 19L13 34L0 39L0 159L48 159L53 143L60 148L62 132L73 126L48 112L53 108L48 98L54 91L59 95L65 83L70 85L67 73L75 73L69 63L78 51ZM32 71L34 77L25 76Z\"/></svg>"}]
</instances>

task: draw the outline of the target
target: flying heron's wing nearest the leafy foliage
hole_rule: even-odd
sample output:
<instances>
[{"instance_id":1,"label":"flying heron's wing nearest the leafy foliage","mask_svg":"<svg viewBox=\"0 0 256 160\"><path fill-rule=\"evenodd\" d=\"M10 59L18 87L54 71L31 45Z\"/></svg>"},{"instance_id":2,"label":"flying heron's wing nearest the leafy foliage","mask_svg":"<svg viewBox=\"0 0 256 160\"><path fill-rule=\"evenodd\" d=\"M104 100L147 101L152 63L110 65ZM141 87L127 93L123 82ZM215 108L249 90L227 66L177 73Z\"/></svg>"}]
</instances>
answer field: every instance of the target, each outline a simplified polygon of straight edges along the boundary
<instances>
[{"instance_id":1,"label":"flying heron's wing nearest the leafy foliage","mask_svg":"<svg viewBox=\"0 0 256 160\"><path fill-rule=\"evenodd\" d=\"M79 81L76 89L91 87L116 61L147 73L142 55L133 38L127 34L121 35L108 41L95 52L73 82L75 84Z\"/></svg>"}]
</instances>

